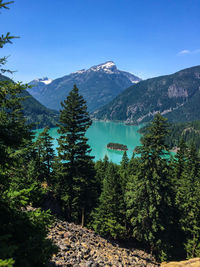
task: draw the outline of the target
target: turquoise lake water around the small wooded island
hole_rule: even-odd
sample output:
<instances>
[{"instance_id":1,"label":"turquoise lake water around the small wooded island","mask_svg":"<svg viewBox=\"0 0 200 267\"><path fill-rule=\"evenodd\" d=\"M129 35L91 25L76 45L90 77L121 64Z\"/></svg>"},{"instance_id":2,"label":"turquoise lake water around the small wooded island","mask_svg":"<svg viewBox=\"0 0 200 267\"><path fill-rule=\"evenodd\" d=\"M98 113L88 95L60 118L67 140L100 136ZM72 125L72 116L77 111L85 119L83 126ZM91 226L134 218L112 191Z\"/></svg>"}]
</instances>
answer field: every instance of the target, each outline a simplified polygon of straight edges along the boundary
<instances>
[{"instance_id":1,"label":"turquoise lake water around the small wooded island","mask_svg":"<svg viewBox=\"0 0 200 267\"><path fill-rule=\"evenodd\" d=\"M107 155L112 162L120 163L123 152L107 149L106 146L110 142L126 145L128 147L128 157L131 158L134 148L140 145L141 135L138 133L138 130L141 127L143 127L143 125L134 126L116 122L93 121L86 136L92 148L91 155L95 156L94 160L103 159L104 156ZM58 128L51 128L49 131L50 135L54 138L53 144L55 149L58 146L56 139L59 137L57 129ZM37 134L42 132L42 130L43 129L37 130Z\"/></svg>"}]
</instances>

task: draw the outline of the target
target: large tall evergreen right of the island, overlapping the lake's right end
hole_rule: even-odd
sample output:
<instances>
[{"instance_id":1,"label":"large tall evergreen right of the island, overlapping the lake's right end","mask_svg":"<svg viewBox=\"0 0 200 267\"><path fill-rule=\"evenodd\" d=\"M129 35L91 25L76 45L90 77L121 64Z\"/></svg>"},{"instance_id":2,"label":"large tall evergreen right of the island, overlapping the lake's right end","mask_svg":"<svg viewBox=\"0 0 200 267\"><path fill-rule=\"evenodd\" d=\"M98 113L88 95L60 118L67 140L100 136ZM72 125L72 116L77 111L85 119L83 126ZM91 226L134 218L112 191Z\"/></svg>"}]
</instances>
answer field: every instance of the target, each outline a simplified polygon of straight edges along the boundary
<instances>
[{"instance_id":1,"label":"large tall evergreen right of the island, overlapping the lake's right end","mask_svg":"<svg viewBox=\"0 0 200 267\"><path fill-rule=\"evenodd\" d=\"M169 178L165 136L167 123L156 114L138 148L141 154L139 170L128 183L127 216L133 227L133 237L147 244L158 259L170 254L173 225L173 195Z\"/></svg>"}]
</instances>

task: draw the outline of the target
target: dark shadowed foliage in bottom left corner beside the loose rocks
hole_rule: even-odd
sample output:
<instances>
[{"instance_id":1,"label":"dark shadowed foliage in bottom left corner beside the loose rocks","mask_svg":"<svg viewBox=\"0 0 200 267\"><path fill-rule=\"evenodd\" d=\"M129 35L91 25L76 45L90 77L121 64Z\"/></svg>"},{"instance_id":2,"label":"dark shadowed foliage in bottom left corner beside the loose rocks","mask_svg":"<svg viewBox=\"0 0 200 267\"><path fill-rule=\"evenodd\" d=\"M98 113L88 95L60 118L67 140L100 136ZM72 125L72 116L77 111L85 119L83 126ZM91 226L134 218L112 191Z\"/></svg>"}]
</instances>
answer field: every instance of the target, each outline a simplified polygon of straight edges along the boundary
<instances>
[{"instance_id":1,"label":"dark shadowed foliage in bottom left corner beside the loose rocks","mask_svg":"<svg viewBox=\"0 0 200 267\"><path fill-rule=\"evenodd\" d=\"M11 207L7 201L1 201L0 217L1 259L12 258L15 266L42 266L48 263L56 252L51 241L46 239L47 226L51 221L48 213L41 210L22 212Z\"/></svg>"}]
</instances>

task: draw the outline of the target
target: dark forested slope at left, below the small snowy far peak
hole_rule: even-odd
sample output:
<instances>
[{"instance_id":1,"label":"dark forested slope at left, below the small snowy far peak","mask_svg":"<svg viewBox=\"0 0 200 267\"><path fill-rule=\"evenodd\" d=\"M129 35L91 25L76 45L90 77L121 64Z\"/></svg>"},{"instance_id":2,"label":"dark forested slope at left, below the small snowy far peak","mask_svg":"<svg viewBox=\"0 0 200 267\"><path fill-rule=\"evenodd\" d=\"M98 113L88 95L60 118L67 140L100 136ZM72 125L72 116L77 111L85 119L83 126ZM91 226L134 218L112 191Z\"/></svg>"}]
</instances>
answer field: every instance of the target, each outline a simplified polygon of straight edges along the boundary
<instances>
[{"instance_id":1,"label":"dark forested slope at left, below the small snowy far peak","mask_svg":"<svg viewBox=\"0 0 200 267\"><path fill-rule=\"evenodd\" d=\"M0 74L0 81L6 80L10 79ZM59 117L59 113L57 111L46 108L34 97L32 97L27 91L23 91L21 96L25 97L22 105L24 108L24 115L27 118L28 123L36 124L36 128L56 126Z\"/></svg>"}]
</instances>

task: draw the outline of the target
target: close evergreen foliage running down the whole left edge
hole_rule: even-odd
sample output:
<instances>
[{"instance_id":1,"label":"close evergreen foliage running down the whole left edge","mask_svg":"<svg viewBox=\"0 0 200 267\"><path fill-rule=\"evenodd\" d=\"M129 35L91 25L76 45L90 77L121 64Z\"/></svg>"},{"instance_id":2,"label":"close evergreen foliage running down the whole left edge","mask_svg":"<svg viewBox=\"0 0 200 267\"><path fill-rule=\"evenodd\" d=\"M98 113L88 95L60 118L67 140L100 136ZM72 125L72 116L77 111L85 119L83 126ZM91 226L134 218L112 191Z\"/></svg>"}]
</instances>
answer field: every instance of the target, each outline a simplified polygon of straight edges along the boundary
<instances>
[{"instance_id":1,"label":"close evergreen foliage running down the whole left edge","mask_svg":"<svg viewBox=\"0 0 200 267\"><path fill-rule=\"evenodd\" d=\"M0 9L11 2L0 0ZM0 37L0 48L10 42ZM6 58L0 58L0 72ZM22 113L20 93L26 86L10 81L0 82L0 265L44 266L56 252L48 240L50 216L41 210L26 211L31 204L32 186L21 176L27 143L32 136ZM20 185L22 185L20 187Z\"/></svg>"}]
</instances>

